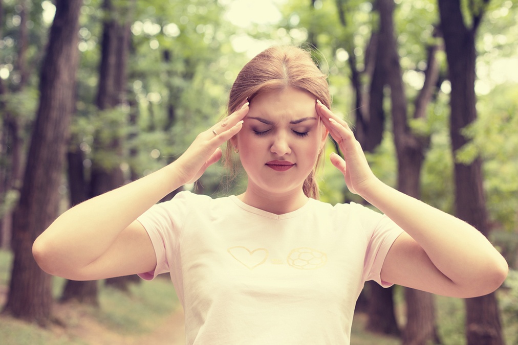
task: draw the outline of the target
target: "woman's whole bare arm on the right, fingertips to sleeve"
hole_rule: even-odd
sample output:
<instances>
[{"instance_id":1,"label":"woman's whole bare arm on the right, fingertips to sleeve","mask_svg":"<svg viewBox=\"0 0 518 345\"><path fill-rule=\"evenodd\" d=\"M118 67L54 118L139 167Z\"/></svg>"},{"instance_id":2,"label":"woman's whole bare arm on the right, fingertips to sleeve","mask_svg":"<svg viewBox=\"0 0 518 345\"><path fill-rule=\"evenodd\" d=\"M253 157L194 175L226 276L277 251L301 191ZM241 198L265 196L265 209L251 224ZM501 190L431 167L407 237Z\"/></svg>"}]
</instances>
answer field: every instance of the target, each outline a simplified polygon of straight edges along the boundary
<instances>
[{"instance_id":1,"label":"woman's whole bare arm on the right, fingertips to sleeve","mask_svg":"<svg viewBox=\"0 0 518 345\"><path fill-rule=\"evenodd\" d=\"M500 286L507 262L477 229L382 183L347 123L321 104L316 110L344 153L344 159L333 154L331 161L349 190L405 230L387 254L384 281L456 297L480 296Z\"/></svg>"}]
</instances>

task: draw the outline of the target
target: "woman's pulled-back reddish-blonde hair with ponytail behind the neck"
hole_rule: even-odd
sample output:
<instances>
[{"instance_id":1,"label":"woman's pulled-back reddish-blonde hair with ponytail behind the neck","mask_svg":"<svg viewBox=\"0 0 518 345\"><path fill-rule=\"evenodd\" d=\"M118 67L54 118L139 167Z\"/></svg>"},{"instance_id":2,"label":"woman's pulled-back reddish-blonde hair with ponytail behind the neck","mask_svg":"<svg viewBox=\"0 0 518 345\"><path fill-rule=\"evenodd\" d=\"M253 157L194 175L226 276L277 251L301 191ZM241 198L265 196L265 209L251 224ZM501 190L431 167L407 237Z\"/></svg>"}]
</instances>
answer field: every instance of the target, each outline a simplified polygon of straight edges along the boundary
<instances>
[{"instance_id":1,"label":"woman's pulled-back reddish-blonde hair with ponytail behind the neck","mask_svg":"<svg viewBox=\"0 0 518 345\"><path fill-rule=\"evenodd\" d=\"M298 47L275 46L257 54L239 72L230 92L227 112L235 112L248 98L252 102L258 94L293 87L307 91L319 99L327 108L331 96L327 76L315 65L311 54ZM233 146L226 148L226 165L232 166ZM315 167L304 181L303 190L307 197L319 199L320 191L315 174L321 153Z\"/></svg>"}]
</instances>

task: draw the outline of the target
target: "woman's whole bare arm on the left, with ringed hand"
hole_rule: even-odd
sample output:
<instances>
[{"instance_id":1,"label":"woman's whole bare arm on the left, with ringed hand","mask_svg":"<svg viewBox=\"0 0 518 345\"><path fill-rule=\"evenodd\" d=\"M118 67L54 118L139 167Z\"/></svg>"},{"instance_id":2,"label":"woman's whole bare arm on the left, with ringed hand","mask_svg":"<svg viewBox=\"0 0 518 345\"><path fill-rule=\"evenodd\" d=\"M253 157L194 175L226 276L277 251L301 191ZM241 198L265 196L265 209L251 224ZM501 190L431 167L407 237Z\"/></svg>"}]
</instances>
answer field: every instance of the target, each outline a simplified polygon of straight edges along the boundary
<instances>
[{"instance_id":1,"label":"woman's whole bare arm on the left, with ringed hand","mask_svg":"<svg viewBox=\"0 0 518 345\"><path fill-rule=\"evenodd\" d=\"M63 213L34 242L37 263L50 274L74 280L152 271L156 266L153 246L136 219L218 161L222 155L219 146L241 129L247 112L248 103L200 133L168 166Z\"/></svg>"}]
</instances>

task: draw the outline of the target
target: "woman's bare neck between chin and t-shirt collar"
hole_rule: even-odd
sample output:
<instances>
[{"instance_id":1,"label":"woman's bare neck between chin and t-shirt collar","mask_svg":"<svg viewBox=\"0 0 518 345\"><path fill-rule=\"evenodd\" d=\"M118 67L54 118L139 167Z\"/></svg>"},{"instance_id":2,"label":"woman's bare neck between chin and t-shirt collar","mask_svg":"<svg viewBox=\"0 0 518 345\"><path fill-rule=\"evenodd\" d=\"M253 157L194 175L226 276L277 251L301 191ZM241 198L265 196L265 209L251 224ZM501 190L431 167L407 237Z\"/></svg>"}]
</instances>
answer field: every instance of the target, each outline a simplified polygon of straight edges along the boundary
<instances>
[{"instance_id":1,"label":"woman's bare neck between chin and t-shirt collar","mask_svg":"<svg viewBox=\"0 0 518 345\"><path fill-rule=\"evenodd\" d=\"M265 191L255 191L250 186L238 198L247 205L277 215L296 211L304 206L309 199L302 188L283 194L272 194Z\"/></svg>"}]
</instances>

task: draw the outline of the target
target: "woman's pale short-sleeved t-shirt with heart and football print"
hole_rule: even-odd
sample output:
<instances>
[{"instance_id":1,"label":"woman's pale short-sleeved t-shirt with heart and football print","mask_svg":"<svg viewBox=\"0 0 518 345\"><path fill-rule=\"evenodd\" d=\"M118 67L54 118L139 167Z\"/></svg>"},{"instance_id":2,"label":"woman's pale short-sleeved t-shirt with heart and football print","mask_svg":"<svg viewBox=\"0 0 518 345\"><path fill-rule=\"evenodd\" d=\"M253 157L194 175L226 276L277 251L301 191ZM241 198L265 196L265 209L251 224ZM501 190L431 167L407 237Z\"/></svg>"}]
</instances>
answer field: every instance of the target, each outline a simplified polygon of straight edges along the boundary
<instances>
[{"instance_id":1,"label":"woman's pale short-sleeved t-shirt with heart and football print","mask_svg":"<svg viewBox=\"0 0 518 345\"><path fill-rule=\"evenodd\" d=\"M359 204L276 215L180 192L138 218L185 311L186 343L349 344L356 299L401 229Z\"/></svg>"}]
</instances>

